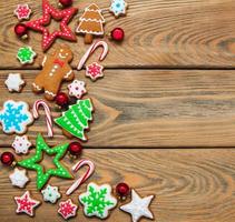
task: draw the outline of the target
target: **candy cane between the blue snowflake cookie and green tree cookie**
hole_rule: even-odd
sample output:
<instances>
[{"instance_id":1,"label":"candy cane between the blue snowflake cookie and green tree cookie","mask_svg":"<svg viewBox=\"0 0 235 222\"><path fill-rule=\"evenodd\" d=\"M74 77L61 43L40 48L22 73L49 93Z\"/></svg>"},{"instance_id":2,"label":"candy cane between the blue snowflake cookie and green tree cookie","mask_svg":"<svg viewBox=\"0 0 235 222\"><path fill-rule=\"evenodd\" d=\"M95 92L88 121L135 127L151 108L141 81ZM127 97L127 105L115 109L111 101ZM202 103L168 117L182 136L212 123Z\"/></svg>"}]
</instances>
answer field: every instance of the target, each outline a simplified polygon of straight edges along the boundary
<instances>
[{"instance_id":1,"label":"candy cane between the blue snowflake cookie and green tree cookie","mask_svg":"<svg viewBox=\"0 0 235 222\"><path fill-rule=\"evenodd\" d=\"M51 112L50 112L50 108L48 107L48 104L43 101L43 100L37 100L33 104L32 108L32 114L35 119L39 118L39 107L42 105L45 109L45 113L46 113L46 122L47 122L47 129L48 129L48 137L52 138L53 137L53 130L52 130L52 118L51 118Z\"/></svg>"}]
</instances>

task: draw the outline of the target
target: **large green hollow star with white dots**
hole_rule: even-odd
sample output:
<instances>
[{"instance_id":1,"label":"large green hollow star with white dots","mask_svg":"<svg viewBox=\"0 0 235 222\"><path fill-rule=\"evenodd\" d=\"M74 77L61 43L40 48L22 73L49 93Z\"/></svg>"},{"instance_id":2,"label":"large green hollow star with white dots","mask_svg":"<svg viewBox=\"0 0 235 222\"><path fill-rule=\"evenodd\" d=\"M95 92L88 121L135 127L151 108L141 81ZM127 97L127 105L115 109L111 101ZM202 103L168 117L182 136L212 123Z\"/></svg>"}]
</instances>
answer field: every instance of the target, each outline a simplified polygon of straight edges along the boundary
<instances>
[{"instance_id":1,"label":"large green hollow star with white dots","mask_svg":"<svg viewBox=\"0 0 235 222\"><path fill-rule=\"evenodd\" d=\"M71 174L59 162L59 160L65 155L67 151L68 143L57 145L55 148L49 148L40 134L38 134L36 143L36 154L29 159L18 162L18 165L37 171L38 190L41 190L43 188L43 185L48 182L51 175L66 179L72 178ZM56 167L55 169L49 169L45 171L43 167L40 165L40 162L43 157L42 152L46 152L49 155L55 155L52 160Z\"/></svg>"}]
</instances>

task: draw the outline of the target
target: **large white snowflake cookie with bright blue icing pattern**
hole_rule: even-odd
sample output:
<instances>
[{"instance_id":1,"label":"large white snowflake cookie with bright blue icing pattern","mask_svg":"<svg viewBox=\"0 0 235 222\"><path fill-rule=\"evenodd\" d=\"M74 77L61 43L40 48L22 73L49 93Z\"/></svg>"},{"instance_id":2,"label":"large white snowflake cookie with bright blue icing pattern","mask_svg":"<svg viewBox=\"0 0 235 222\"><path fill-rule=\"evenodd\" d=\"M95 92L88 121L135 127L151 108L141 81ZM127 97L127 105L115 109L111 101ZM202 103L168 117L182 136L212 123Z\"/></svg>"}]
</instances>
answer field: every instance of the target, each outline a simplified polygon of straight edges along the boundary
<instances>
[{"instance_id":1,"label":"large white snowflake cookie with bright blue icing pattern","mask_svg":"<svg viewBox=\"0 0 235 222\"><path fill-rule=\"evenodd\" d=\"M32 114L29 112L29 105L26 102L14 102L8 100L0 111L0 123L4 133L23 134L27 125L33 122Z\"/></svg>"}]
</instances>

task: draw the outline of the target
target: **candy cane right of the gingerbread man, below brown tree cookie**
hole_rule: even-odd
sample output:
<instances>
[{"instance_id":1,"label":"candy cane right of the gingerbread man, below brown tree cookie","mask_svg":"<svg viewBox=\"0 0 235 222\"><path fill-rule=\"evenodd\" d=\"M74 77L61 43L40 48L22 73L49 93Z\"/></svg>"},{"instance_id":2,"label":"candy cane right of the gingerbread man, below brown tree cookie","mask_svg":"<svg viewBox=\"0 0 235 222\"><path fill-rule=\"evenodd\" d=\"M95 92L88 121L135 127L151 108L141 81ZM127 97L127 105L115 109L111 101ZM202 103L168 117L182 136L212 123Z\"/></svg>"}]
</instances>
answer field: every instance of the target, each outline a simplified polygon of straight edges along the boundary
<instances>
[{"instance_id":1,"label":"candy cane right of the gingerbread man, below brown tree cookie","mask_svg":"<svg viewBox=\"0 0 235 222\"><path fill-rule=\"evenodd\" d=\"M81 70L88 58L95 52L95 50L99 47L102 47L102 52L99 57L99 61L102 61L106 56L108 54L108 44L105 41L97 41L91 44L91 47L87 50L87 52L84 54L81 58L79 64L78 64L78 70Z\"/></svg>"}]
</instances>

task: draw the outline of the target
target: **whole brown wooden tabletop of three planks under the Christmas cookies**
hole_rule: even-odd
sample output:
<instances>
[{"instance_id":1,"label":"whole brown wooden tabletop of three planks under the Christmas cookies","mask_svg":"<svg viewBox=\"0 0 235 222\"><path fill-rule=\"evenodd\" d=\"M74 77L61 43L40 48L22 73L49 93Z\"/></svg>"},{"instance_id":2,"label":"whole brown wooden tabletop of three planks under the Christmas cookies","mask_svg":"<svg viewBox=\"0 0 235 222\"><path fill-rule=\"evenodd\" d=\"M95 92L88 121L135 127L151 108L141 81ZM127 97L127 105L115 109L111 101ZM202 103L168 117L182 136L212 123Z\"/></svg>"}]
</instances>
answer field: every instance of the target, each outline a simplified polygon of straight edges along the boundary
<instances>
[{"instance_id":1,"label":"whole brown wooden tabletop of three planks under the Christmas cookies","mask_svg":"<svg viewBox=\"0 0 235 222\"><path fill-rule=\"evenodd\" d=\"M25 2L25 1L23 1ZM33 17L41 14L41 1L28 0ZM96 163L89 181L110 183L126 181L141 195L155 194L151 211L158 222L233 222L235 221L235 2L233 0L129 0L128 16L114 19L108 0L75 0L81 10L70 27L75 28L82 9L97 2L105 9L106 31L121 27L126 40L108 41L110 53L104 61L106 77L92 83L86 80L88 95L96 112L89 142L82 158ZM0 7L0 105L8 99L33 103L30 84L39 72L43 57L41 34L30 32L29 41L18 40L12 31L17 19L12 12L20 0L1 1ZM56 4L56 0L51 0ZM52 27L56 23L52 24ZM57 41L62 42L62 41ZM38 52L33 65L21 67L17 50L29 44ZM88 46L78 37L72 47L74 68ZM52 50L49 51L51 53ZM90 58L95 61L98 57ZM9 93L4 80L20 72L27 81L22 93ZM66 91L67 83L62 87ZM50 103L53 117L60 112ZM46 135L41 114L28 131L31 141L38 132ZM55 128L50 145L68 141ZM0 134L1 151L11 150L13 135ZM31 151L33 152L33 150ZM22 159L19 157L18 159ZM67 168L74 162L63 159ZM43 164L49 167L50 159ZM14 195L23 190L12 188L11 169L0 169L0 221L62 221L57 205L42 203L36 218L17 215ZM27 186L41 200L36 189L36 173L30 172ZM66 200L71 181L51 179ZM78 203L82 185L71 195ZM71 221L98 221L85 218L81 206ZM130 221L116 209L107 220ZM147 220L143 220L147 221Z\"/></svg>"}]
</instances>

